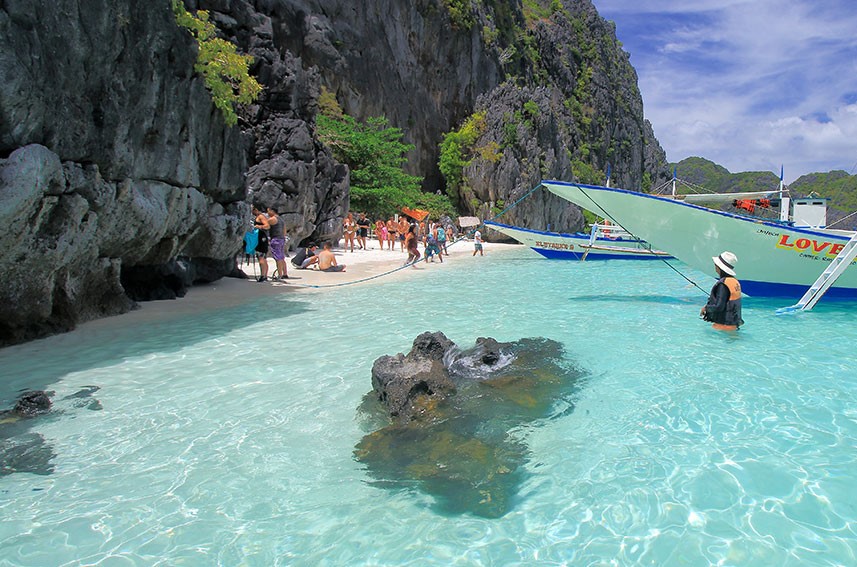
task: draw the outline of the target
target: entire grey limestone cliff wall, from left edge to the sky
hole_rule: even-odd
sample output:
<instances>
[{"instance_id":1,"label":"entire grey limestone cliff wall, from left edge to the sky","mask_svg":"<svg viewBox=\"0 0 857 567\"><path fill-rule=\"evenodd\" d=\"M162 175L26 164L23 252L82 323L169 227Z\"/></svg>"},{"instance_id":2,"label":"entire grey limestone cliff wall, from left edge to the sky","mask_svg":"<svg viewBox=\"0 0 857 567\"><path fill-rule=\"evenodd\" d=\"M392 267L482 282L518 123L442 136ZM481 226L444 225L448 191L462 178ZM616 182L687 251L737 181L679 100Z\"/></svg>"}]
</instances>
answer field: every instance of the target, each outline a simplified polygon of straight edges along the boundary
<instances>
[{"instance_id":1,"label":"entire grey limestone cliff wall, from left edge to the sky","mask_svg":"<svg viewBox=\"0 0 857 567\"><path fill-rule=\"evenodd\" d=\"M338 238L349 177L315 137L322 86L402 128L430 191L444 188L443 134L484 111L478 143L499 157L466 168L462 213L488 218L543 177L592 181L608 163L628 187L661 175L636 76L588 0L538 17L471 3L464 18L446 0L185 4L255 57L265 90L237 127L194 75L168 0L0 2L0 345L229 273L251 201L281 212L292 246ZM582 223L544 193L509 214Z\"/></svg>"}]
</instances>

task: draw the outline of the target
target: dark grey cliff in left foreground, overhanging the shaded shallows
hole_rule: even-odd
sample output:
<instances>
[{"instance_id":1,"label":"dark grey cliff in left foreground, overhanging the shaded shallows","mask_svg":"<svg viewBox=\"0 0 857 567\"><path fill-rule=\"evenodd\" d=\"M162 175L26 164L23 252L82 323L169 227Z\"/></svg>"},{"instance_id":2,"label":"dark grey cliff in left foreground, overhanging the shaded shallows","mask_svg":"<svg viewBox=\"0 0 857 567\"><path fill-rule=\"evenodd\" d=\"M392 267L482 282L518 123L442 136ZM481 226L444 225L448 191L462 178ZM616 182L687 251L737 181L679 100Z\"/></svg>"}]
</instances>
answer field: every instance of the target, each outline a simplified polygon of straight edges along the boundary
<instances>
[{"instance_id":1,"label":"dark grey cliff in left foreground, overhanging the shaded shallows","mask_svg":"<svg viewBox=\"0 0 857 567\"><path fill-rule=\"evenodd\" d=\"M194 60L166 1L0 3L0 344L231 268L248 140Z\"/></svg>"}]
</instances>

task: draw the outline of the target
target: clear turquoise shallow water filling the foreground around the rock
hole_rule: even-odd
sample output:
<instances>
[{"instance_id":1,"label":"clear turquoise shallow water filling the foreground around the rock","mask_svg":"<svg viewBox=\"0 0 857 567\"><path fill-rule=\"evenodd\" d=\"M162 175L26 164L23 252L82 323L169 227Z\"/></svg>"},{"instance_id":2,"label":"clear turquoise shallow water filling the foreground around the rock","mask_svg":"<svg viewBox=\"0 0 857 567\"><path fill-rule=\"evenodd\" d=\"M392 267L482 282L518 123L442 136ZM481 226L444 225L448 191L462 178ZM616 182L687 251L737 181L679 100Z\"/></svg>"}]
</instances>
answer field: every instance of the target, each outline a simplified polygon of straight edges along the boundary
<instances>
[{"instance_id":1,"label":"clear turquoise shallow water filling the foreground around the rock","mask_svg":"<svg viewBox=\"0 0 857 567\"><path fill-rule=\"evenodd\" d=\"M0 350L3 407L56 392L25 432L53 472L0 476L0 565L857 563L857 305L749 299L736 336L660 262L432 268ZM373 361L425 330L547 337L584 371L573 411L514 432L500 519L353 458ZM103 409L61 400L85 386Z\"/></svg>"}]
</instances>

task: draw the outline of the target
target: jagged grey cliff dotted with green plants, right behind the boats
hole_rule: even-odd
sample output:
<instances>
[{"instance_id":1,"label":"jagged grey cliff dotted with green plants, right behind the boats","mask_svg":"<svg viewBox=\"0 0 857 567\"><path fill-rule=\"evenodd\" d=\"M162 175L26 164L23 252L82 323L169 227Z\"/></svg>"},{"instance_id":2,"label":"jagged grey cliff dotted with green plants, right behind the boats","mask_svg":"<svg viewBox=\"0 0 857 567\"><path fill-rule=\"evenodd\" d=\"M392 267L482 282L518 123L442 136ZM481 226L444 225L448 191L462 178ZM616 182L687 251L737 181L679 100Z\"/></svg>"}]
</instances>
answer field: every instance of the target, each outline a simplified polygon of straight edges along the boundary
<instances>
[{"instance_id":1,"label":"jagged grey cliff dotted with green plants, right behind the boats","mask_svg":"<svg viewBox=\"0 0 857 567\"><path fill-rule=\"evenodd\" d=\"M528 80L507 80L475 105L485 128L474 147L497 152L490 159L472 154L456 191L460 208L490 219L542 179L603 184L608 169L614 187L639 190L666 179L665 154L643 118L637 76L613 25L588 1L565 2L564 10L531 23L530 34L537 55ZM546 191L498 220L541 230L583 227L577 207Z\"/></svg>"}]
</instances>

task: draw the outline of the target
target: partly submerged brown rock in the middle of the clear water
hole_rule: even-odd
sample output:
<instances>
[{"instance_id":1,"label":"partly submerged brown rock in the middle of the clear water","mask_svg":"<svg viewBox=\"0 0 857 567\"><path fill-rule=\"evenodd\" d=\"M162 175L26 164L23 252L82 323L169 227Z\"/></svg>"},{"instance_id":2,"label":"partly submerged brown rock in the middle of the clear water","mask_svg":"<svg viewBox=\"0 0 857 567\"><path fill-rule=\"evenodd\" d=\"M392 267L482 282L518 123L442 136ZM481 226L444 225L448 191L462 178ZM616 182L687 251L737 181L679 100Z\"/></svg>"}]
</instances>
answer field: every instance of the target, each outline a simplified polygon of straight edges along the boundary
<instances>
[{"instance_id":1,"label":"partly submerged brown rock in the middle of the clear water","mask_svg":"<svg viewBox=\"0 0 857 567\"><path fill-rule=\"evenodd\" d=\"M389 422L355 456L380 486L416 483L442 513L503 516L529 459L512 430L569 411L580 376L549 339L480 338L462 351L442 333L424 333L407 355L375 362L371 398Z\"/></svg>"}]
</instances>

